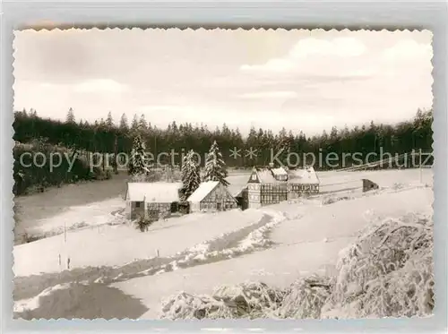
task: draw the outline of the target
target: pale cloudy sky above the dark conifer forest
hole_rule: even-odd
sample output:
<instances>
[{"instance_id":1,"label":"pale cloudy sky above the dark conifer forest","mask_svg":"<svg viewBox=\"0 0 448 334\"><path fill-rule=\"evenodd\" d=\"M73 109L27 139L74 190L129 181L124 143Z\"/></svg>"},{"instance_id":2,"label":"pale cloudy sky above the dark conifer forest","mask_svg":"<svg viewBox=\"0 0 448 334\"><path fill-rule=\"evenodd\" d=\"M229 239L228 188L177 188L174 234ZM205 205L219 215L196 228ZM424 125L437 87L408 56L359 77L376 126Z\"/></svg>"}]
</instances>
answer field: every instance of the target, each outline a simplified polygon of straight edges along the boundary
<instances>
[{"instance_id":1,"label":"pale cloudy sky above the dark conifer forest","mask_svg":"<svg viewBox=\"0 0 448 334\"><path fill-rule=\"evenodd\" d=\"M22 30L14 109L242 133L394 124L432 107L431 43L428 30Z\"/></svg>"}]
</instances>

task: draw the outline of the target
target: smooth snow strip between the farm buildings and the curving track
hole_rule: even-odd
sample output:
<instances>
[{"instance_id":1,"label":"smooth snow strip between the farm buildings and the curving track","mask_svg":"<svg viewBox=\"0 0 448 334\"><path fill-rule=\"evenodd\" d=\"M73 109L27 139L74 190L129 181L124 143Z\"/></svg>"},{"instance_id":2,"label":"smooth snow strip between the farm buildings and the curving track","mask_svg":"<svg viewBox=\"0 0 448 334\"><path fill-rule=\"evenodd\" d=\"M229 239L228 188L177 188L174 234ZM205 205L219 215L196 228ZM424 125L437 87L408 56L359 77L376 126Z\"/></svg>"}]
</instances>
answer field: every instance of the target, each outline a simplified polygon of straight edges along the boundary
<instances>
[{"instance_id":1,"label":"smooth snow strip between the farm buildings and the curving track","mask_svg":"<svg viewBox=\"0 0 448 334\"><path fill-rule=\"evenodd\" d=\"M104 204L107 205L108 201ZM110 215L110 210L105 216L110 219L107 220L109 223L116 221L116 217ZM69 230L66 238L65 235L52 236L14 246L13 270L16 276L30 276L65 270L68 258L70 268L73 269L120 266L131 261L150 259L158 252L160 257L169 257L203 240L250 226L262 217L263 211L260 210L229 210L168 218L167 221L153 223L146 233L126 224L102 224Z\"/></svg>"}]
</instances>

